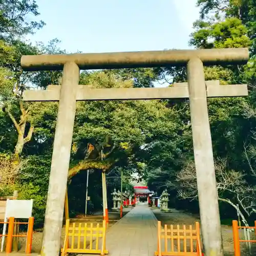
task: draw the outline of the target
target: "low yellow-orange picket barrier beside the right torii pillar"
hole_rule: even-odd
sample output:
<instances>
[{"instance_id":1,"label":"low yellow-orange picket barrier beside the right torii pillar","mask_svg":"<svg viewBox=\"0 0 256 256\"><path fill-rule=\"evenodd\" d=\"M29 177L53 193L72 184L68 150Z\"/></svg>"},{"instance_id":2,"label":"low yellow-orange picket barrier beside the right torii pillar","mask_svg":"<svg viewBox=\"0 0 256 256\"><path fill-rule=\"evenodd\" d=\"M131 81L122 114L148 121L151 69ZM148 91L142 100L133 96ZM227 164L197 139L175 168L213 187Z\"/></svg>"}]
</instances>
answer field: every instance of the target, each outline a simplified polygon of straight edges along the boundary
<instances>
[{"instance_id":1,"label":"low yellow-orange picket barrier beside the right torii pillar","mask_svg":"<svg viewBox=\"0 0 256 256\"><path fill-rule=\"evenodd\" d=\"M177 225L176 229L173 225L161 226L158 221L157 228L158 250L155 252L157 256L202 256L200 227L199 222L196 222L196 229L189 225L187 229L185 225L180 228ZM162 242L163 247L162 248ZM183 244L181 243L183 242ZM183 246L182 246L183 245ZM183 248L182 248L183 247Z\"/></svg>"}]
</instances>

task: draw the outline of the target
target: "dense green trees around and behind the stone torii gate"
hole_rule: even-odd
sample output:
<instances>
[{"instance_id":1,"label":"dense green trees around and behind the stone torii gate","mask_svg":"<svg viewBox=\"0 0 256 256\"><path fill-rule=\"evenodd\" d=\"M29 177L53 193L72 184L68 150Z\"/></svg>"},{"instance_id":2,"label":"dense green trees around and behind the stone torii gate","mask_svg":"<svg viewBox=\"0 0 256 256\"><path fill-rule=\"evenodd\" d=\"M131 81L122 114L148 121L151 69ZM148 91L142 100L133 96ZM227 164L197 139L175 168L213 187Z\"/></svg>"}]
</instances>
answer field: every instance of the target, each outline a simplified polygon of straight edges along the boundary
<instances>
[{"instance_id":1,"label":"dense green trees around and behind the stone torii gate","mask_svg":"<svg viewBox=\"0 0 256 256\"><path fill-rule=\"evenodd\" d=\"M253 0L198 0L198 6L200 17L191 31L190 45L197 49L250 49L247 65L205 68L206 80L249 85L248 98L208 100L221 214L231 217L239 210L248 221L256 203L256 6ZM45 25L31 22L33 15L39 15L35 1L2 0L0 10L0 196L18 189L20 199L33 198L34 216L37 224L42 224L58 104L26 103L22 93L29 87L45 89L60 84L62 72L24 72L19 62L23 54L66 50L58 47L58 39L47 45L32 45L22 39ZM186 81L185 69L82 72L80 84L146 88L163 79L170 86ZM132 174L137 173L158 195L167 188L171 207L198 212L189 120L188 100L78 102L68 181L71 214L84 212L86 170L90 170L89 210L102 208L102 169L108 174L109 203L114 187L120 189L122 169L124 190L132 190ZM228 214L226 209L231 209Z\"/></svg>"}]
</instances>

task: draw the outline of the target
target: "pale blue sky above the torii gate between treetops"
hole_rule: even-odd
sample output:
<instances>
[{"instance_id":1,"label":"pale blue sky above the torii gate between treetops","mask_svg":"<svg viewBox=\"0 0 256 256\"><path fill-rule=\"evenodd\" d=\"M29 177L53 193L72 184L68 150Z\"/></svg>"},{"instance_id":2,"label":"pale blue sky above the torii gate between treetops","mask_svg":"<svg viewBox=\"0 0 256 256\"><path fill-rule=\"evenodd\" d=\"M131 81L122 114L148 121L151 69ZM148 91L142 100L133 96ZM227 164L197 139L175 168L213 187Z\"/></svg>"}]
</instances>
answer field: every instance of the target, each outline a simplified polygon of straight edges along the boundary
<instances>
[{"instance_id":1,"label":"pale blue sky above the torii gate between treetops","mask_svg":"<svg viewBox=\"0 0 256 256\"><path fill-rule=\"evenodd\" d=\"M37 0L46 26L28 38L68 52L189 49L197 0Z\"/></svg>"}]
</instances>

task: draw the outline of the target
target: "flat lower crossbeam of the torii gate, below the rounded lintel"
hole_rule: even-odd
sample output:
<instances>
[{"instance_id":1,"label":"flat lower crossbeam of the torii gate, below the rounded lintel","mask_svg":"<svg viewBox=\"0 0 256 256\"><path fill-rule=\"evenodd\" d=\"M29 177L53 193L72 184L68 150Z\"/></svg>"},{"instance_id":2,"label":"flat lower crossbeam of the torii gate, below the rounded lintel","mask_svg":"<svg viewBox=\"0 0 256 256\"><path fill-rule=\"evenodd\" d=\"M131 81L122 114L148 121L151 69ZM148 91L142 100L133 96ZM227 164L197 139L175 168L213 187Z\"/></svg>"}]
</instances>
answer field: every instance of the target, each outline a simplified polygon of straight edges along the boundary
<instances>
[{"instance_id":1,"label":"flat lower crossbeam of the torii gate, below the rounded lintel","mask_svg":"<svg viewBox=\"0 0 256 256\"><path fill-rule=\"evenodd\" d=\"M246 84L218 85L218 81L206 81L207 97L238 97L247 96ZM72 86L72 85L71 85ZM58 101L60 86L50 86L50 90L26 90L25 101ZM91 89L89 86L79 86L76 100L131 100L131 99L174 99L188 98L187 83L176 83L168 88L106 88Z\"/></svg>"}]
</instances>

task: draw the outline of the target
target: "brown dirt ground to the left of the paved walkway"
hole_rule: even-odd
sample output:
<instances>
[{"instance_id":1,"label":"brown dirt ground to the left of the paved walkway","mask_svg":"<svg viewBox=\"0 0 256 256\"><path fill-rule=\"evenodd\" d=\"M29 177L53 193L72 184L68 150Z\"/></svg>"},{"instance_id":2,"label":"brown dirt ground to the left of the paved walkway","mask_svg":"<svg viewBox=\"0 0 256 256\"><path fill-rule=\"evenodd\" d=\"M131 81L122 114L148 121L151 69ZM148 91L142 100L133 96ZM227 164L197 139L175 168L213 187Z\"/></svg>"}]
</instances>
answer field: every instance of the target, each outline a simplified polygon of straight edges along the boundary
<instances>
[{"instance_id":1,"label":"brown dirt ground to the left of the paved walkway","mask_svg":"<svg viewBox=\"0 0 256 256\"><path fill-rule=\"evenodd\" d=\"M123 216L127 214L132 208L123 208ZM120 212L109 212L109 226L111 227L120 219ZM70 223L102 223L102 213L97 212L95 215L88 215L87 217L84 216L77 216L77 218L70 219ZM65 238L65 225L63 225L61 230L61 244L63 244L63 240ZM32 240L32 252L39 253L41 249L42 243L42 232L35 231L33 233L33 240ZM19 252L25 252L26 247L26 240L23 238L19 239Z\"/></svg>"}]
</instances>

